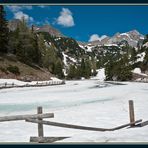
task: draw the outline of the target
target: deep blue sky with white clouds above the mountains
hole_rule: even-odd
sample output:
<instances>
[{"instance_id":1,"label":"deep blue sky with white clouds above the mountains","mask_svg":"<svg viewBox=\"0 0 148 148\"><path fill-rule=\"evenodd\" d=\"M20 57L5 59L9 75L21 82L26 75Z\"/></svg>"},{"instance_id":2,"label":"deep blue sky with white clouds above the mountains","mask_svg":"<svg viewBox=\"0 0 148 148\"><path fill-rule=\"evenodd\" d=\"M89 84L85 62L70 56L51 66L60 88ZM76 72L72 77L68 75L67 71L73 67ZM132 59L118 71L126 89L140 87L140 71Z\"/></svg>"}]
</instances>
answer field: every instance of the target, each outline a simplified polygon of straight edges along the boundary
<instances>
[{"instance_id":1,"label":"deep blue sky with white clouds above the mountains","mask_svg":"<svg viewBox=\"0 0 148 148\"><path fill-rule=\"evenodd\" d=\"M148 33L148 6L6 6L7 19L24 16L29 24L50 24L64 35L88 41L138 30Z\"/></svg>"}]
</instances>

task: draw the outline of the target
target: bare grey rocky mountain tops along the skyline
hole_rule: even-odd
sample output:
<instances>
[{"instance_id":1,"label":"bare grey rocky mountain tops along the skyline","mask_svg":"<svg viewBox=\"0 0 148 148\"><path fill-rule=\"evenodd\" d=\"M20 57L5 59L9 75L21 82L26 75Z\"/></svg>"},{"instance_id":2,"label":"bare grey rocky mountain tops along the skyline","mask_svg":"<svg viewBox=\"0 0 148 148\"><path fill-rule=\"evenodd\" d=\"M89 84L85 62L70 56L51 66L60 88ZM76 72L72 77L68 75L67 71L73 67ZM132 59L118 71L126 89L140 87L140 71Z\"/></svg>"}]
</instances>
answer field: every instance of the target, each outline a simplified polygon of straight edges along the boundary
<instances>
[{"instance_id":1,"label":"bare grey rocky mountain tops along the skyline","mask_svg":"<svg viewBox=\"0 0 148 148\"><path fill-rule=\"evenodd\" d=\"M13 19L8 22L8 28L10 30L15 30L17 26L19 25L18 19ZM45 24L42 26L37 26L35 24L32 24L32 29L36 32L47 32L52 36L56 37L64 37L65 35L62 34L58 29L55 27ZM66 37L66 36L65 36ZM92 45L104 45L104 44L118 44L119 42L122 41L127 41L128 44L132 47L136 47L139 41L144 40L144 35L141 34L139 31L136 29L123 32L123 33L115 33L113 36L108 36L108 35L103 35L101 36L98 40L94 40L91 42L83 42L83 41L77 41L78 43L82 44L92 44Z\"/></svg>"}]
</instances>

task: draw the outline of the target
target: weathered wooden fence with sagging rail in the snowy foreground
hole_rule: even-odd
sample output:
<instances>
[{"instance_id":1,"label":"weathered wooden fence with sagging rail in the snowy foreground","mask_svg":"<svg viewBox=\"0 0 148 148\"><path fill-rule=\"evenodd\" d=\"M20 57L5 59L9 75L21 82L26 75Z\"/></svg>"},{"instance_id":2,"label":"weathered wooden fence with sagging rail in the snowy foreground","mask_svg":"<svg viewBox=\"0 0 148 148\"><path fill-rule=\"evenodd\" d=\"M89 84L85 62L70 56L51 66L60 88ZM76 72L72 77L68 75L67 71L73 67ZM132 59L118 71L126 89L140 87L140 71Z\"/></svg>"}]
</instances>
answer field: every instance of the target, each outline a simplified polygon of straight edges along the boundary
<instances>
[{"instance_id":1,"label":"weathered wooden fence with sagging rail in the snowy foreground","mask_svg":"<svg viewBox=\"0 0 148 148\"><path fill-rule=\"evenodd\" d=\"M38 107L37 114L4 116L4 117L0 117L0 122L25 120L26 122L38 124L38 137L30 137L30 142L38 142L38 143L52 143L52 142L59 141L65 138L69 138L69 137L44 137L43 125L56 126L56 127L61 127L61 128L72 128L72 129L78 129L78 130L100 131L100 132L115 131L115 130L119 130L125 127L135 128L135 127L143 127L143 126L148 125L148 121L142 122L142 119L135 121L134 103L132 100L129 100L129 120L130 122L127 124L114 127L114 128L97 128L97 127L88 127L88 126L60 123L60 122L51 122L51 121L43 120L44 118L54 118L54 114L53 113L43 113L42 107Z\"/></svg>"}]
</instances>

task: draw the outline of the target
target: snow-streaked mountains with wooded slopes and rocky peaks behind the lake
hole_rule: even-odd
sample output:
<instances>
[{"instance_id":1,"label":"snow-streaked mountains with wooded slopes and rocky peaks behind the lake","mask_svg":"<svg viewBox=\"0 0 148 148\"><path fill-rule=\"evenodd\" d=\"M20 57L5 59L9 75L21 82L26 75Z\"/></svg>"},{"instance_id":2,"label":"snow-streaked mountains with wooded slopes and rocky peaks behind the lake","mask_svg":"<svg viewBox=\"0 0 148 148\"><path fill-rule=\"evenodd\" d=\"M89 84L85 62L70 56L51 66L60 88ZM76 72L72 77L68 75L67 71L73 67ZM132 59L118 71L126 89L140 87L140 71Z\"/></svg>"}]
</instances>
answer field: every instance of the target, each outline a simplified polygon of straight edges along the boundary
<instances>
[{"instance_id":1,"label":"snow-streaked mountains with wooded slopes and rocky peaks behind the lake","mask_svg":"<svg viewBox=\"0 0 148 148\"><path fill-rule=\"evenodd\" d=\"M9 26L15 28L13 23ZM131 80L134 68L138 67L144 73L148 71L148 41L135 29L117 32L112 37L103 36L93 42L77 41L50 25L32 25L29 29L37 34L37 38L40 35L44 38L42 41L47 55L44 53L43 56L46 58L47 68L55 71L60 63L66 78L89 78L96 75L97 69L105 68L107 80ZM58 70L56 69L56 74Z\"/></svg>"}]
</instances>

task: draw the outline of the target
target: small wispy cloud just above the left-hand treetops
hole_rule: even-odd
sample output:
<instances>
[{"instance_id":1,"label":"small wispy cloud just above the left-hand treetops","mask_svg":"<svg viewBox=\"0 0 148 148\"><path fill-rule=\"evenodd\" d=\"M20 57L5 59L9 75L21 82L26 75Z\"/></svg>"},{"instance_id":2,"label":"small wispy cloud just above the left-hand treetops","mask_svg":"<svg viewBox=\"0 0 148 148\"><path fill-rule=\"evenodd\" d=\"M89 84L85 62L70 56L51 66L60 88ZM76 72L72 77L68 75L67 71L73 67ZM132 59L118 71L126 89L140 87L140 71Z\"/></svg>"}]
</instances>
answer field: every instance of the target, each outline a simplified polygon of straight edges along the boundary
<instances>
[{"instance_id":1,"label":"small wispy cloud just above the left-hand treetops","mask_svg":"<svg viewBox=\"0 0 148 148\"><path fill-rule=\"evenodd\" d=\"M22 11L18 11L16 13L14 13L14 18L15 19L22 19L23 17L27 21L30 21L30 22L34 21L33 17L29 16L28 14L23 13Z\"/></svg>"}]
</instances>

